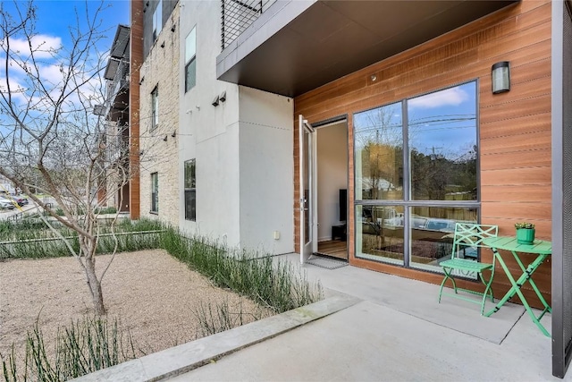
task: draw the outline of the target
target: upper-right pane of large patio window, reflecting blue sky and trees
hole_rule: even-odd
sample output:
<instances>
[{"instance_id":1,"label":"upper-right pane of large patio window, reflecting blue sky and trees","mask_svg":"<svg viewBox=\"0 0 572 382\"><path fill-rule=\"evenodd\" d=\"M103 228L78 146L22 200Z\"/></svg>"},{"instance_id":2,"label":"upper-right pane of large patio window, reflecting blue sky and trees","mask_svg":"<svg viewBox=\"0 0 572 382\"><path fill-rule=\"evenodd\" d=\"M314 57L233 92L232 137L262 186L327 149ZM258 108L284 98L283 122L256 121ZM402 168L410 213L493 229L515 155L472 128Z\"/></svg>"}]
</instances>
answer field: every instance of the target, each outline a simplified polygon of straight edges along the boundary
<instances>
[{"instance_id":1,"label":"upper-right pane of large patio window, reflecting blue sky and trees","mask_svg":"<svg viewBox=\"0 0 572 382\"><path fill-rule=\"evenodd\" d=\"M408 100L411 199L476 200L476 82Z\"/></svg>"}]
</instances>

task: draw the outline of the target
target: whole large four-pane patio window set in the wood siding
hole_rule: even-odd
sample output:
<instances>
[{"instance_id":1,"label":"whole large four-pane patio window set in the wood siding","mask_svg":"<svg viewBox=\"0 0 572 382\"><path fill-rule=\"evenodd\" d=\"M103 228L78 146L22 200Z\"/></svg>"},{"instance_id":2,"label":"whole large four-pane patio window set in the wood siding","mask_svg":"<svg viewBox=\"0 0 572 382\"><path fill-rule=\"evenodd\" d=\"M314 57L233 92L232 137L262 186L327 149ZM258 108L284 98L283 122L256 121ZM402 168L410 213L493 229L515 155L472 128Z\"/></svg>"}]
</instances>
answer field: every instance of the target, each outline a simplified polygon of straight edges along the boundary
<instances>
[{"instance_id":1,"label":"whole large four-pane patio window set in the wood siding","mask_svg":"<svg viewBox=\"0 0 572 382\"><path fill-rule=\"evenodd\" d=\"M441 272L478 220L476 82L354 115L356 256Z\"/></svg>"}]
</instances>

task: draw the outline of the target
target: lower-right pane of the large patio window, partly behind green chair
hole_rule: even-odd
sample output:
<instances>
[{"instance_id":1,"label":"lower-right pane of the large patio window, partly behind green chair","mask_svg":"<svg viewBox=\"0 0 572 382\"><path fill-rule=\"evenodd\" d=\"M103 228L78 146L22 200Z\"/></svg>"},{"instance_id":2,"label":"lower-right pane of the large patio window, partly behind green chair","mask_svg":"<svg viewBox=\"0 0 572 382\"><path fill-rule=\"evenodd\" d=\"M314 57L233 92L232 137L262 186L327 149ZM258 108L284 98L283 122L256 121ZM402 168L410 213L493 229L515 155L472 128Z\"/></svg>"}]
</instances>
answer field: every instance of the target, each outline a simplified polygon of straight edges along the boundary
<instances>
[{"instance_id":1,"label":"lower-right pane of the large patio window, partly behind green chair","mask_svg":"<svg viewBox=\"0 0 572 382\"><path fill-rule=\"evenodd\" d=\"M412 207L409 218L410 266L442 272L439 263L450 259L455 224L476 224L477 211L476 208Z\"/></svg>"}]
</instances>

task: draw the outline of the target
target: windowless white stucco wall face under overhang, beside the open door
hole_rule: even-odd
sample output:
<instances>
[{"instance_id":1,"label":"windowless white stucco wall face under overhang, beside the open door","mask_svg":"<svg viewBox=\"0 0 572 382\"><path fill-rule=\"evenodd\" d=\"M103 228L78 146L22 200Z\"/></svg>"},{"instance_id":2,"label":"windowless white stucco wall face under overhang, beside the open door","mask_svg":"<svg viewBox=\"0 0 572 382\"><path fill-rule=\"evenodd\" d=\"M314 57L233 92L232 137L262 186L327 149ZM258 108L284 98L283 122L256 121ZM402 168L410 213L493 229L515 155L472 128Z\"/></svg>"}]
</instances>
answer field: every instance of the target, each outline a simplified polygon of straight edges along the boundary
<instances>
[{"instance_id":1,"label":"windowless white stucco wall face under overhang, beside the open door","mask_svg":"<svg viewBox=\"0 0 572 382\"><path fill-rule=\"evenodd\" d=\"M291 98L240 87L240 244L294 250ZM274 231L280 238L274 239Z\"/></svg>"}]
</instances>

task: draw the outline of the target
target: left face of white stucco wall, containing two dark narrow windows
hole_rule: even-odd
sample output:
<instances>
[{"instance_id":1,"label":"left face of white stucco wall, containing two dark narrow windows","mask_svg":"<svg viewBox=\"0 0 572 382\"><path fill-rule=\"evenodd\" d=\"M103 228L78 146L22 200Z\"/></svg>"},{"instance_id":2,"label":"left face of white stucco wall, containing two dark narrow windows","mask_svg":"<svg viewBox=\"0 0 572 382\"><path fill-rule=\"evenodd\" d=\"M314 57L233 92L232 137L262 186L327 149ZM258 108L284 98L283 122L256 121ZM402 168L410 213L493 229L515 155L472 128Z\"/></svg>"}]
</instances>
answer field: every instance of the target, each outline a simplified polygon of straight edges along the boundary
<instances>
[{"instance_id":1,"label":"left face of white stucco wall, containing two dark narrow windows","mask_svg":"<svg viewBox=\"0 0 572 382\"><path fill-rule=\"evenodd\" d=\"M238 245L239 221L239 91L238 86L216 80L216 56L220 53L220 4L181 2L180 151L178 199L179 225ZM185 93L185 38L197 28L197 83ZM213 106L216 95L226 91L226 101ZM184 162L197 164L197 221L185 220Z\"/></svg>"}]
</instances>

